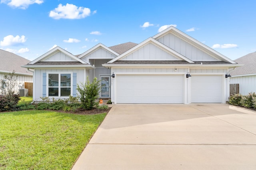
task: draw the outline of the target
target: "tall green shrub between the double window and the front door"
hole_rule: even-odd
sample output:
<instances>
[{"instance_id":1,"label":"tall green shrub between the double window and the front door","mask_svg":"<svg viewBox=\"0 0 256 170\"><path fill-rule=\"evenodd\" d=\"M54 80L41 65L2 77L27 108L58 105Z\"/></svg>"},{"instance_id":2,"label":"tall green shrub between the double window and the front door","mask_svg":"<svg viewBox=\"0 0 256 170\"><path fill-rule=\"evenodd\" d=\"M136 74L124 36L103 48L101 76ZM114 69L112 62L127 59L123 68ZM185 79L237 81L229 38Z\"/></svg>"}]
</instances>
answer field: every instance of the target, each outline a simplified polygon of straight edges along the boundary
<instances>
[{"instance_id":1,"label":"tall green shrub between the double window and the front door","mask_svg":"<svg viewBox=\"0 0 256 170\"><path fill-rule=\"evenodd\" d=\"M77 84L77 90L80 93L79 99L81 101L81 107L86 110L91 110L94 107L98 107L98 102L95 100L99 97L100 92L100 81L95 77L90 83L89 78L87 76L87 80L85 84L79 86Z\"/></svg>"}]
</instances>

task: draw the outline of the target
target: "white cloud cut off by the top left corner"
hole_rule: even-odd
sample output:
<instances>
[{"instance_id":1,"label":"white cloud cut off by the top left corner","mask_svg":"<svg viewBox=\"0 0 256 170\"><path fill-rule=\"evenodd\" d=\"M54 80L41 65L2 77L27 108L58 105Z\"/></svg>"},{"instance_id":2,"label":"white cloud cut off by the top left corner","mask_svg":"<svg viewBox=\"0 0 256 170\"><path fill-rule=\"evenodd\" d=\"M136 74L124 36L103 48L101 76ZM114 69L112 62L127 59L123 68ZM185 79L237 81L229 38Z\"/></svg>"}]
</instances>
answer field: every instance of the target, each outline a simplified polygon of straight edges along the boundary
<instances>
[{"instance_id":1,"label":"white cloud cut off by the top left corner","mask_svg":"<svg viewBox=\"0 0 256 170\"><path fill-rule=\"evenodd\" d=\"M25 10L31 4L42 4L44 0L1 0L1 4L7 4L14 8L21 8Z\"/></svg>"}]
</instances>

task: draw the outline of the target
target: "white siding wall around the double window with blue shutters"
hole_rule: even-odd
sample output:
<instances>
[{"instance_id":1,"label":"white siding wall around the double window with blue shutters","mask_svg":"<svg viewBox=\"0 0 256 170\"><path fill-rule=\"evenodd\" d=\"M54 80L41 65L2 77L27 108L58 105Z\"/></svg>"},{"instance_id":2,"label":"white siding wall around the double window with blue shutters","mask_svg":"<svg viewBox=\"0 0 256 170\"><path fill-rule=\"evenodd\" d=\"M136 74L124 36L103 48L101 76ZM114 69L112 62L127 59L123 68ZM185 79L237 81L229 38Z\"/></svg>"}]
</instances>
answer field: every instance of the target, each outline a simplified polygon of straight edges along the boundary
<instances>
[{"instance_id":1,"label":"white siding wall around the double window with blue shutters","mask_svg":"<svg viewBox=\"0 0 256 170\"><path fill-rule=\"evenodd\" d=\"M88 73L86 69L35 69L34 70L35 82L33 83L33 100L34 101L41 101L40 97L43 96L43 74L49 73L49 72L76 73L76 84L80 84L80 82L84 83L86 81L86 74Z\"/></svg>"}]
</instances>

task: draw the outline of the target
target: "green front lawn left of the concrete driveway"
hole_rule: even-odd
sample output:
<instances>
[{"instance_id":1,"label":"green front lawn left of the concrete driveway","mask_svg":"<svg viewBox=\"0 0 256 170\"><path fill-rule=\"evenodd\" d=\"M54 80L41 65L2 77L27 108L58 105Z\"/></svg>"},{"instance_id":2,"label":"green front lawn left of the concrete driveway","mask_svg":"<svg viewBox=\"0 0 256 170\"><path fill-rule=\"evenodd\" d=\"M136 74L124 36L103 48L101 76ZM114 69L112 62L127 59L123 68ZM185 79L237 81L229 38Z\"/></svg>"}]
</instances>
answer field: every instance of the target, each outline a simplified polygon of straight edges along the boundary
<instances>
[{"instance_id":1,"label":"green front lawn left of the concrete driveway","mask_svg":"<svg viewBox=\"0 0 256 170\"><path fill-rule=\"evenodd\" d=\"M105 116L0 113L0 170L69 170Z\"/></svg>"}]
</instances>

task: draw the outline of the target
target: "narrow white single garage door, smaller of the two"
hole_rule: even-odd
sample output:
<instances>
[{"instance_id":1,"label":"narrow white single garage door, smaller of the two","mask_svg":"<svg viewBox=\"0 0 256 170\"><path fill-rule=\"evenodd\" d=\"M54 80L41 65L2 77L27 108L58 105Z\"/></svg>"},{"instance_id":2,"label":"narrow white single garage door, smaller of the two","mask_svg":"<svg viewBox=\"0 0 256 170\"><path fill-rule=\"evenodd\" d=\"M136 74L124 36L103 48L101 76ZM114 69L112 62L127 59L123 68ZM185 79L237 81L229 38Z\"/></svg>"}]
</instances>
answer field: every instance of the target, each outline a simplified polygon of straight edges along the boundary
<instances>
[{"instance_id":1,"label":"narrow white single garage door, smaller of the two","mask_svg":"<svg viewBox=\"0 0 256 170\"><path fill-rule=\"evenodd\" d=\"M222 75L192 75L192 103L222 103Z\"/></svg>"}]
</instances>

